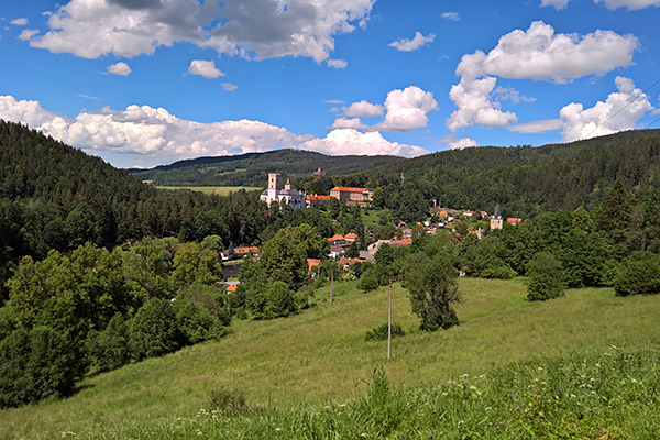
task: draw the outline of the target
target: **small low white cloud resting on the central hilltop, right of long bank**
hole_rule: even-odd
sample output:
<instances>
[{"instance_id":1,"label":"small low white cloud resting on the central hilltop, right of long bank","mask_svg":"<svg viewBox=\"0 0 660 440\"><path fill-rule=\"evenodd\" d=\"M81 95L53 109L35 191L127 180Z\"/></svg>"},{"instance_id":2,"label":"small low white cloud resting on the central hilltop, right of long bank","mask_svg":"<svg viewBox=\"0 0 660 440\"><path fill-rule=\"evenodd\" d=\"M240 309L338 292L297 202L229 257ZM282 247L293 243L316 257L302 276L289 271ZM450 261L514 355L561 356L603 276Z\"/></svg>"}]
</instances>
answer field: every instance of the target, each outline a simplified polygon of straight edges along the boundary
<instances>
[{"instance_id":1,"label":"small low white cloud resting on the central hilltop, right of long bank","mask_svg":"<svg viewBox=\"0 0 660 440\"><path fill-rule=\"evenodd\" d=\"M361 133L353 129L332 130L323 139L314 139L300 145L301 150L314 150L326 154L391 154L395 156L419 156L429 152L420 146L389 142L378 132Z\"/></svg>"}]
</instances>

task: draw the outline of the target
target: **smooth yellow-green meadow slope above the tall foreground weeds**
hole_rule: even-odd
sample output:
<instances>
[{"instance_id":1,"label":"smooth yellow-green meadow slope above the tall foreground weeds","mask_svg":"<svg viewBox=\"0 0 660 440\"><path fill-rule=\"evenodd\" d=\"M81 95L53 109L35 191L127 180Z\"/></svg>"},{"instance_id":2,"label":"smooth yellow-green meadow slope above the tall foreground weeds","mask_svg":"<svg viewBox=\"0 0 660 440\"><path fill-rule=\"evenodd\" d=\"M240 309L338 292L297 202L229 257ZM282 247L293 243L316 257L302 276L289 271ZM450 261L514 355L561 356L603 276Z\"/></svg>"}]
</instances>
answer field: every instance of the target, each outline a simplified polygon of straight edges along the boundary
<instances>
[{"instance_id":1,"label":"smooth yellow-green meadow slope above the tall foreground weeds","mask_svg":"<svg viewBox=\"0 0 660 440\"><path fill-rule=\"evenodd\" d=\"M393 343L364 342L364 332L387 317L387 288L356 294L337 283L336 301L274 321L243 321L219 342L129 365L84 383L64 402L0 413L0 438L61 437L148 426L190 417L205 407L209 391L234 387L251 404L288 406L362 395L363 380L384 364L398 389L437 384L464 373L537 356L656 346L660 341L660 297L617 298L612 289L569 290L543 304L525 300L521 279L462 279L461 326L438 333L414 331L405 290L395 285L394 319L409 332Z\"/></svg>"}]
</instances>

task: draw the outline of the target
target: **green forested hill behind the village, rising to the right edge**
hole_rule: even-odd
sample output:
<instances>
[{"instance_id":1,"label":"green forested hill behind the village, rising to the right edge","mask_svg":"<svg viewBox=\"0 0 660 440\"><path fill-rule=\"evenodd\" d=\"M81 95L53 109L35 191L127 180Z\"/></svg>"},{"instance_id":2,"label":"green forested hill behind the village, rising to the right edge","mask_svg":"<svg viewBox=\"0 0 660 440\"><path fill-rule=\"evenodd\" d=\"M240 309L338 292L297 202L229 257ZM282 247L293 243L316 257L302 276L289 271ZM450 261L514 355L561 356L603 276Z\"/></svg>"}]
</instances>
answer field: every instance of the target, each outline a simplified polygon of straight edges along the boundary
<instances>
[{"instance_id":1,"label":"green forested hill behind the village, rising to the right edge","mask_svg":"<svg viewBox=\"0 0 660 440\"><path fill-rule=\"evenodd\" d=\"M402 183L402 174L404 176ZM620 132L568 144L443 151L343 176L376 188L376 207L418 220L433 200L443 207L510 217L597 207L620 179L628 190L660 188L660 130Z\"/></svg>"}]
</instances>

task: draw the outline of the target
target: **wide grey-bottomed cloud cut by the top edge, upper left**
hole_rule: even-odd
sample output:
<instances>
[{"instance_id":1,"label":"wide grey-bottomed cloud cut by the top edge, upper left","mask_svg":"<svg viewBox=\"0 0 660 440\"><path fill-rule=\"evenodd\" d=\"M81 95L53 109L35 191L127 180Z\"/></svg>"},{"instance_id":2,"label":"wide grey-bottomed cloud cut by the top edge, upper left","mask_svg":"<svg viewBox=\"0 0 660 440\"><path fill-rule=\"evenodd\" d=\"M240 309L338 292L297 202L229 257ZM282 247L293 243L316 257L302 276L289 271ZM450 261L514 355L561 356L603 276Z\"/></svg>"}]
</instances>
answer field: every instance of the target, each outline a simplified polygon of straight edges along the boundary
<instances>
[{"instance_id":1,"label":"wide grey-bottomed cloud cut by the top edge, upper left","mask_svg":"<svg viewBox=\"0 0 660 440\"><path fill-rule=\"evenodd\" d=\"M188 42L256 59L329 58L334 35L364 25L375 0L70 0L31 45L84 58L132 57ZM339 67L342 62L329 64Z\"/></svg>"}]
</instances>

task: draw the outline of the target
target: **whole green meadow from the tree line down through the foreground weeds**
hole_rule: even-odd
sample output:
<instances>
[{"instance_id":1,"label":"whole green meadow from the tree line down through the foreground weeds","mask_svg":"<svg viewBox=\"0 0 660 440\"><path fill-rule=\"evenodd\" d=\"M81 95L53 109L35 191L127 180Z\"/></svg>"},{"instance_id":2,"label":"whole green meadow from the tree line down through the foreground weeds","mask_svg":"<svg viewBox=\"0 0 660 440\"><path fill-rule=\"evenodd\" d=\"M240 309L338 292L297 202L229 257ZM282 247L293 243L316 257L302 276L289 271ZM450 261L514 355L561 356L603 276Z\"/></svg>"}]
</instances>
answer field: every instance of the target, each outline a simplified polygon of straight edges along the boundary
<instances>
[{"instance_id":1,"label":"whole green meadow from the tree line down through the foreground weeds","mask_svg":"<svg viewBox=\"0 0 660 440\"><path fill-rule=\"evenodd\" d=\"M364 341L366 330L387 319L387 287L362 294L356 290L354 282L338 282L333 304L328 301L328 286L317 293L316 306L300 315L272 321L237 321L232 323L232 333L220 341L186 348L161 359L88 378L81 383L79 393L68 399L0 411L0 438L206 438L205 432L213 432L210 438L429 438L429 429L433 431L433 428L422 427L426 421L415 418L425 410L430 411L428 417L431 417L430 414L443 408L439 403L442 399L446 404L455 404L442 413L447 420L454 420L454 431L443 432L449 438L460 438L468 427L479 433L481 426L483 431L483 420L488 419L481 414L486 407L495 409L493 413L486 410L487 417L497 415L501 417L497 420L505 420L510 408L508 400L505 404L501 399L509 393L517 393L518 400L530 405L525 409L541 411L540 419L544 420L554 407L542 407L543 399L557 397L560 402L560 397L564 396L570 403L573 402L570 396L581 396L575 393L584 387L566 394L570 385L565 382L569 381L566 377L595 375L593 372L580 373L580 369L591 367L590 362L582 361L584 356L598 360L593 364L601 367L608 359L614 359L612 353L615 353L616 362L620 364L626 353L656 353L660 342L660 297L619 298L608 288L585 288L568 290L565 297L550 301L529 302L525 299L522 278L462 278L460 292L463 300L458 306L461 324L447 331L425 333L417 330L419 320L410 314L405 289L395 284L393 290L393 319L404 327L407 334L393 341L389 361L386 360L386 342ZM605 355L609 358L602 361ZM657 355L649 356L649 362L656 362L656 366L639 373L640 377L659 371ZM571 359L574 361L561 363L561 360ZM547 373L547 365L553 362L560 362L559 366L556 365L559 372L556 376ZM619 369L616 362L607 374L614 377L613 383L623 386L622 381L629 381L632 373L616 376ZM530 382L535 377L529 372L536 373L537 364L541 365L538 366L541 369L539 372L546 369L543 386L553 381L561 383L557 386L565 388L563 394L552 389L547 396L534 392L537 393L534 399L531 394L520 397L527 393L522 388L532 391L532 386L540 386L540 383L535 385ZM630 361L627 365L632 364ZM387 386L382 389L377 386L378 381L374 376L377 367L382 367L392 389L389 394L381 393ZM479 382L480 376L497 378L487 383L483 378L483 383L465 382ZM506 381L499 378L505 376ZM588 378L584 381L588 382ZM451 389L438 388L440 386ZM244 394L248 406L261 409L245 417L219 417L209 402L210 393L221 389ZM476 396L471 394L471 389L482 389L480 398L483 393L484 399L491 399L490 406L479 406L481 413L476 415L470 411L462 414L462 409L457 409L457 405L466 405L472 402L470 398ZM399 397L391 396L395 392ZM465 393L472 397L466 398ZM612 393L620 394L617 391ZM657 403L658 393L651 394ZM585 399L595 398L593 396L600 398L600 395L588 394ZM378 400L384 398L392 399L387 400L392 404ZM619 407L613 407L610 400L606 404L605 409L618 411ZM410 415L413 419L397 425L398 431L384 431L384 427L397 420L393 415L387 416L386 421L374 422L378 420L374 418L378 411L400 406L403 409L399 408L397 414L406 414L405 408L410 405L417 408ZM625 417L641 417L649 408L648 405L639 408L635 405L625 406ZM592 411L597 407L594 403L588 406ZM575 408L583 407L569 407L570 414L579 414ZM644 432L647 431L644 430L637 431L641 437L626 435L629 431L616 418L618 413L613 415L605 409L603 417L614 420L612 424L616 426L608 426L604 435L610 437L602 438L645 438ZM628 416L629 413L632 416ZM538 414L536 418L539 418ZM648 424L658 422L657 419L654 416L645 420ZM362 425L354 426L360 420ZM569 432L568 437L550 438L591 438L586 433L604 429L598 425L588 431L591 428L581 425L581 420L588 418L562 420L564 428L574 426L575 429L564 429ZM279 431L275 430L277 427ZM420 429L419 437L415 427ZM514 429L514 425L509 427L507 436L513 437L498 437L493 433L495 431L488 431L494 437L486 436L486 431L482 432L483 436L473 432L468 437L536 438L539 432L546 432L542 424L540 431L527 432L529 437L522 436L524 431L516 430L518 428ZM289 435L284 436L286 432ZM349 436L349 432L352 435ZM571 437L573 433L575 437ZM457 437L452 437L454 435Z\"/></svg>"}]
</instances>

